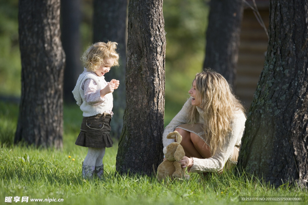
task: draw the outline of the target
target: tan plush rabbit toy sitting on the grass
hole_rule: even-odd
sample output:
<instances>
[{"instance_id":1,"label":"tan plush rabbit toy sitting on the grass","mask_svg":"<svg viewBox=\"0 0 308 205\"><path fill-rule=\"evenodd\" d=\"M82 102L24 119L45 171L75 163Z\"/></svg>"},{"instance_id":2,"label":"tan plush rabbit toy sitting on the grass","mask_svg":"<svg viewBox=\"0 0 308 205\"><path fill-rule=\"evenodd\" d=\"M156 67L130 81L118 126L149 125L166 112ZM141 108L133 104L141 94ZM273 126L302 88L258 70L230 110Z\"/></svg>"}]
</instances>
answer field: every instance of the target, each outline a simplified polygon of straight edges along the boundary
<instances>
[{"instance_id":1,"label":"tan plush rabbit toy sitting on the grass","mask_svg":"<svg viewBox=\"0 0 308 205\"><path fill-rule=\"evenodd\" d=\"M171 179L184 179L186 177L185 168L182 168L179 163L185 156L184 149L182 145L180 145L182 136L179 132L174 131L167 135L167 139L176 139L176 142L172 142L167 147L164 147L163 152L166 160L158 166L156 178L158 180L166 177L170 177Z\"/></svg>"}]
</instances>

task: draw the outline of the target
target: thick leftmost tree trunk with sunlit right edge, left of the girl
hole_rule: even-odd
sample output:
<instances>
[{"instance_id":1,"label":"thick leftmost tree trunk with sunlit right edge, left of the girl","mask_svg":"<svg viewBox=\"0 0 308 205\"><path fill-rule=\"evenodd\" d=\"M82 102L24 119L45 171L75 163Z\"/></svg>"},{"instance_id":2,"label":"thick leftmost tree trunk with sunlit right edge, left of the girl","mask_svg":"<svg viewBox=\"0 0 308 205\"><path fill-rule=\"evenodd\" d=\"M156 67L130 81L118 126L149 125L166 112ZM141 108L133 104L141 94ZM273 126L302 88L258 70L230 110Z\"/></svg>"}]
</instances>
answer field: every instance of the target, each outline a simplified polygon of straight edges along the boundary
<instances>
[{"instance_id":1,"label":"thick leftmost tree trunk with sunlit right edge, left of the girl","mask_svg":"<svg viewBox=\"0 0 308 205\"><path fill-rule=\"evenodd\" d=\"M22 94L15 143L62 147L63 70L60 0L19 0Z\"/></svg>"}]
</instances>

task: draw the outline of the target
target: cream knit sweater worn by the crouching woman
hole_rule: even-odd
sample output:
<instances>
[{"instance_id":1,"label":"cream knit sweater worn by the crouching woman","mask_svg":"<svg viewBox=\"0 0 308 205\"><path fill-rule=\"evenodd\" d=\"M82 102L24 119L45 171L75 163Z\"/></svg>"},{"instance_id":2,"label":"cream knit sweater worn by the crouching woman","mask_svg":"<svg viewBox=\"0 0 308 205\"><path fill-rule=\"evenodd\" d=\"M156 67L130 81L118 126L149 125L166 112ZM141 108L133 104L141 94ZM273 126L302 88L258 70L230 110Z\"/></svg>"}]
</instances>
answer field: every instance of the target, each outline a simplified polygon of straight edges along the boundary
<instances>
[{"instance_id":1,"label":"cream knit sweater worn by the crouching woman","mask_svg":"<svg viewBox=\"0 0 308 205\"><path fill-rule=\"evenodd\" d=\"M179 113L171 120L171 122L166 126L163 134L163 144L166 147L168 144L174 142L173 139L167 139L167 135L173 132L177 126L180 124L188 124L188 106L191 103L191 98L189 98L184 104L183 108ZM204 124L203 111L201 108L197 107L197 124ZM231 121L232 131L225 136L225 144L221 146L221 150L217 148L215 155L208 159L198 159L193 158L194 164L190 172L203 172L203 171L219 171L224 166L226 161L232 157L235 145L241 144L241 139L245 129L246 117L243 112L237 111L235 113L235 118ZM209 144L209 142L206 142Z\"/></svg>"}]
</instances>

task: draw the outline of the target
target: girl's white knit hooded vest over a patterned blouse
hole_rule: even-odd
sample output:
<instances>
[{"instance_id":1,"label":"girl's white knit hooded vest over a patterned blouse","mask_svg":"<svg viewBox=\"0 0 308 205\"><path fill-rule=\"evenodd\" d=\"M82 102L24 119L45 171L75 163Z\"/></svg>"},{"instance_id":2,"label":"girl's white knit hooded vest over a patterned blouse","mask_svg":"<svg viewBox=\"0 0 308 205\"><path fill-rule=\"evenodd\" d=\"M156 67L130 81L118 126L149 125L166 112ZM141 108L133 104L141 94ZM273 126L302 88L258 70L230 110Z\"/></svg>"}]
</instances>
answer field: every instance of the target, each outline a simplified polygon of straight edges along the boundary
<instances>
[{"instance_id":1,"label":"girl's white knit hooded vest over a patterned blouse","mask_svg":"<svg viewBox=\"0 0 308 205\"><path fill-rule=\"evenodd\" d=\"M112 93L108 93L104 96L104 101L101 104L96 106L90 105L84 99L84 90L82 89L83 82L86 79L92 79L97 85L97 89L101 90L106 87L107 82L105 81L104 76L97 76L95 73L88 72L84 69L83 73L79 75L76 86L72 91L77 104L80 106L80 109L83 111L84 117L95 116L97 114L103 114L104 112L111 110L113 107L113 97Z\"/></svg>"}]
</instances>

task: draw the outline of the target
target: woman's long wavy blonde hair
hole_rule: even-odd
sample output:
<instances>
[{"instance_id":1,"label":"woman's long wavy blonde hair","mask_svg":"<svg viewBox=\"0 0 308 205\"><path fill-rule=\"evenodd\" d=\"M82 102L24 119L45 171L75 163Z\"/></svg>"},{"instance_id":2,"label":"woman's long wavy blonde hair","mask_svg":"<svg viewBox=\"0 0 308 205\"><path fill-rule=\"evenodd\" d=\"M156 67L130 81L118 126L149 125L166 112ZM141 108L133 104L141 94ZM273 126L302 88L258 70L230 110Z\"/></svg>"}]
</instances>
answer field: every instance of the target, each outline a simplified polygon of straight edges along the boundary
<instances>
[{"instance_id":1,"label":"woman's long wavy blonde hair","mask_svg":"<svg viewBox=\"0 0 308 205\"><path fill-rule=\"evenodd\" d=\"M212 156L217 148L221 148L224 137L231 131L230 123L234 117L234 112L244 108L239 100L233 95L232 89L226 79L219 73L206 70L197 73L196 97L202 99L199 107L204 112L204 131L207 139L210 139ZM197 108L190 104L189 121L196 123Z\"/></svg>"}]
</instances>

